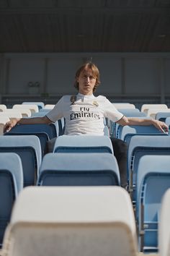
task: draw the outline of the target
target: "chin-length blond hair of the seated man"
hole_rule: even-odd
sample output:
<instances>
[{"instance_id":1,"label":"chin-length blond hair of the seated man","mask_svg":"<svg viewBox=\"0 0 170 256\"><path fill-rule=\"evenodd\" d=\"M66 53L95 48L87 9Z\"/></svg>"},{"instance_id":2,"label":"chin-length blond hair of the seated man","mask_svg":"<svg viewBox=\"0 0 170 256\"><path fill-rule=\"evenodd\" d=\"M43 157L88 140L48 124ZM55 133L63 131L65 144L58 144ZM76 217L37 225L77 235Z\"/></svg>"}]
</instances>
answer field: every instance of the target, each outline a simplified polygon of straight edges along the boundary
<instances>
[{"instance_id":1,"label":"chin-length blond hair of the seated man","mask_svg":"<svg viewBox=\"0 0 170 256\"><path fill-rule=\"evenodd\" d=\"M79 75L81 74L82 71L88 70L88 69L91 69L92 75L94 76L94 78L96 78L96 83L95 83L94 88L93 88L93 92L94 92L97 89L97 87L99 86L99 84L100 84L99 69L97 68L97 66L94 63L91 63L91 62L87 62L87 63L83 64L76 71L74 87L77 90L79 90L79 82L77 82L77 78L79 78Z\"/></svg>"}]
</instances>

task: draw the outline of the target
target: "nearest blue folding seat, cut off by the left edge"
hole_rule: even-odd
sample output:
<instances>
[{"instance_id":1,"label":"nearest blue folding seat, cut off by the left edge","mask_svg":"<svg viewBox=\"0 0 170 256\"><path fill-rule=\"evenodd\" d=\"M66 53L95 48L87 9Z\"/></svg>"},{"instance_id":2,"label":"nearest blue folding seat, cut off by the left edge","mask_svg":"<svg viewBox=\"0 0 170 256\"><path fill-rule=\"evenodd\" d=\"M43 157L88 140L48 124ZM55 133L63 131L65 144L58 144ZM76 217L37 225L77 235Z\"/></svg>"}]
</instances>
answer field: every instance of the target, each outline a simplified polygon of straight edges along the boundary
<instances>
[{"instance_id":1,"label":"nearest blue folding seat, cut off by the left edge","mask_svg":"<svg viewBox=\"0 0 170 256\"><path fill-rule=\"evenodd\" d=\"M0 153L0 248L14 200L23 188L22 162L15 153Z\"/></svg>"}]
</instances>

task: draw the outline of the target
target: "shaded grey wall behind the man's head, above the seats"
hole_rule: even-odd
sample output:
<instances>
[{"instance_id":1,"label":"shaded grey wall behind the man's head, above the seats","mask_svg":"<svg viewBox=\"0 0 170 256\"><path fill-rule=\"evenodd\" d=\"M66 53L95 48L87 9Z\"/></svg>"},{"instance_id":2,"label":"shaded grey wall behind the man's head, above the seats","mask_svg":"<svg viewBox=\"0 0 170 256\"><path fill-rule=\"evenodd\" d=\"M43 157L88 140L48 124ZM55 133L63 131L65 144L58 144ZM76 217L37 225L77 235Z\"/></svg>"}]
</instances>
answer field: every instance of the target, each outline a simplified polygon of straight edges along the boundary
<instances>
[{"instance_id":1,"label":"shaded grey wall behind the man's head, above the seats","mask_svg":"<svg viewBox=\"0 0 170 256\"><path fill-rule=\"evenodd\" d=\"M74 94L76 69L91 58L101 74L97 94L122 101L155 97L163 103L170 98L170 54L166 53L1 54L1 97L50 100ZM40 86L34 87L35 82Z\"/></svg>"}]
</instances>

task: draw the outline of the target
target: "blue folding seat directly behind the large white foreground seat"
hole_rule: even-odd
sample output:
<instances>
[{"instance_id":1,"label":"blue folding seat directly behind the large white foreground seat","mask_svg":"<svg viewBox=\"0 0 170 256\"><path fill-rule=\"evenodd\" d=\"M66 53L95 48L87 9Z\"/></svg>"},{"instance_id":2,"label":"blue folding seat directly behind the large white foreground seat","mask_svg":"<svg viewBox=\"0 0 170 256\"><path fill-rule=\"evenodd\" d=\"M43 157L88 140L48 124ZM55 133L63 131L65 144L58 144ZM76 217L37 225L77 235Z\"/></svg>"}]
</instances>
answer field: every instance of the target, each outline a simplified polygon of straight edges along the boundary
<instances>
[{"instance_id":1,"label":"blue folding seat directly behind the large white foreground seat","mask_svg":"<svg viewBox=\"0 0 170 256\"><path fill-rule=\"evenodd\" d=\"M42 159L40 186L120 185L117 160L109 153L48 153Z\"/></svg>"}]
</instances>

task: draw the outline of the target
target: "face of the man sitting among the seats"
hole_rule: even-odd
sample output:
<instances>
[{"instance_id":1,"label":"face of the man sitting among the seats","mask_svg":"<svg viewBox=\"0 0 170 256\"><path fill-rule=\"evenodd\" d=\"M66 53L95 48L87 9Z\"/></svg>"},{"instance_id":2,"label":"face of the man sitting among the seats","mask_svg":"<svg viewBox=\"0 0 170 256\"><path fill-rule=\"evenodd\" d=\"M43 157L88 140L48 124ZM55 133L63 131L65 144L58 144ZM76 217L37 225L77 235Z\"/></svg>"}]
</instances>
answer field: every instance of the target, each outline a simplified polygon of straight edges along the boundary
<instances>
[{"instance_id":1,"label":"face of the man sitting among the seats","mask_svg":"<svg viewBox=\"0 0 170 256\"><path fill-rule=\"evenodd\" d=\"M79 93L91 95L96 81L97 79L92 74L91 69L84 69L77 78L77 82L79 82Z\"/></svg>"}]
</instances>

